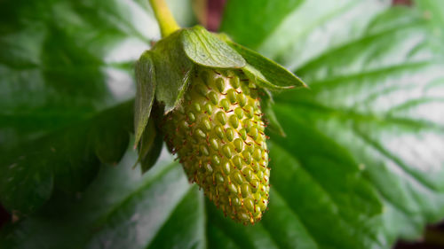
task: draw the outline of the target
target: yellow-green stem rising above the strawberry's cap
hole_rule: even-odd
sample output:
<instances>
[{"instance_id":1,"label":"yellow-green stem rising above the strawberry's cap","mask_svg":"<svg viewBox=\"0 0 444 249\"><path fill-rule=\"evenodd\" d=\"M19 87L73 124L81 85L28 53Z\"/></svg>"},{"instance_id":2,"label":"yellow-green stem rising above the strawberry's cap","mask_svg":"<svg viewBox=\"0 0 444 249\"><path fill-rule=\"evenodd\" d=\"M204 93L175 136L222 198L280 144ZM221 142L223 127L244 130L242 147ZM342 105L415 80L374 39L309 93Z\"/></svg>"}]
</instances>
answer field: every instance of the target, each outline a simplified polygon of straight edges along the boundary
<instances>
[{"instance_id":1,"label":"yellow-green stem rising above the strawberry's cap","mask_svg":"<svg viewBox=\"0 0 444 249\"><path fill-rule=\"evenodd\" d=\"M149 4L155 11L155 19L157 19L161 28L162 37L166 37L180 28L165 0L149 0Z\"/></svg>"}]
</instances>

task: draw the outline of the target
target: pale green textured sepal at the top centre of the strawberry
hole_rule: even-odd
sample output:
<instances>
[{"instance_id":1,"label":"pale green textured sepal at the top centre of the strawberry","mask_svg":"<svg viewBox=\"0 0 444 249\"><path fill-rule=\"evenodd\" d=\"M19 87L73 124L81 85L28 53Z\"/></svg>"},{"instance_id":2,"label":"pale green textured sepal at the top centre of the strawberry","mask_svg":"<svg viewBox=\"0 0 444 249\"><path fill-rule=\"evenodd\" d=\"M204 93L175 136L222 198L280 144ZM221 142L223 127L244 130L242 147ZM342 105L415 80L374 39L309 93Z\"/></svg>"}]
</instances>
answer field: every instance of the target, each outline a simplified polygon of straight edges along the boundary
<instances>
[{"instance_id":1,"label":"pale green textured sepal at the top centre of the strawberry","mask_svg":"<svg viewBox=\"0 0 444 249\"><path fill-rule=\"evenodd\" d=\"M245 60L239 53L202 26L184 29L180 38L186 56L194 63L215 68L245 66Z\"/></svg>"}]
</instances>

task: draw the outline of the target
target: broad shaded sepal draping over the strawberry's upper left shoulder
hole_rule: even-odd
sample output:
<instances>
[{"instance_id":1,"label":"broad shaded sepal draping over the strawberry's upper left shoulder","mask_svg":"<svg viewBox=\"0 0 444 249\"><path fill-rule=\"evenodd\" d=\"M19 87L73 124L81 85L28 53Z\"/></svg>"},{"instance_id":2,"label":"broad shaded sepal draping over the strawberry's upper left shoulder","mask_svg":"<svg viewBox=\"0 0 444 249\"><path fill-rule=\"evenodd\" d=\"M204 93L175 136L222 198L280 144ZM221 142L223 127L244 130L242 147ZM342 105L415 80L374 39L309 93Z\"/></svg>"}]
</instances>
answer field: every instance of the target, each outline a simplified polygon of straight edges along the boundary
<instances>
[{"instance_id":1,"label":"broad shaded sepal draping over the strawberry's upper left shoulder","mask_svg":"<svg viewBox=\"0 0 444 249\"><path fill-rule=\"evenodd\" d=\"M164 105L164 114L170 113L179 104L194 66L180 42L183 31L180 29L163 38L151 50L155 64L155 99Z\"/></svg>"}]
</instances>

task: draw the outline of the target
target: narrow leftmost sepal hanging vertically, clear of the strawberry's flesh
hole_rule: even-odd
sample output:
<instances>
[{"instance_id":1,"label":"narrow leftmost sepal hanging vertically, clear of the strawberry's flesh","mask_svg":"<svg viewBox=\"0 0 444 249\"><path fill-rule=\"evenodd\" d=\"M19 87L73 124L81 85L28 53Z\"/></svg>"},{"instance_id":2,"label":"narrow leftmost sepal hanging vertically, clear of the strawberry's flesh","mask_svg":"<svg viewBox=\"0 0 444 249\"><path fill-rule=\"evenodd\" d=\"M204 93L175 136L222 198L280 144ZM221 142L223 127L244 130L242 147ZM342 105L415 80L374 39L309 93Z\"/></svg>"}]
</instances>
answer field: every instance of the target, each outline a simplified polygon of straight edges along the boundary
<instances>
[{"instance_id":1,"label":"narrow leftmost sepal hanging vertically, clear of the strawberry's flesh","mask_svg":"<svg viewBox=\"0 0 444 249\"><path fill-rule=\"evenodd\" d=\"M155 100L155 65L151 51L145 51L136 62L136 99L134 104L135 142L139 140L147 127L151 108Z\"/></svg>"}]
</instances>

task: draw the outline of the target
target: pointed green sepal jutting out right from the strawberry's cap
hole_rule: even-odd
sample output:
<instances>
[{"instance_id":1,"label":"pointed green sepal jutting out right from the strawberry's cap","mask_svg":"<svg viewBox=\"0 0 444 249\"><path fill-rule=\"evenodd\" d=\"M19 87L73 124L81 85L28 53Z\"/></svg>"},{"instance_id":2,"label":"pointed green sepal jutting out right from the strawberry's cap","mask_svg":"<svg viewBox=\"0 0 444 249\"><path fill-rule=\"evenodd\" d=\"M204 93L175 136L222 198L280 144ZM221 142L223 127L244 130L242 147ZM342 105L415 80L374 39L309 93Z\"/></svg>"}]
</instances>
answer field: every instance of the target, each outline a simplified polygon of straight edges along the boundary
<instances>
[{"instance_id":1,"label":"pointed green sepal jutting out right from the strawberry's cap","mask_svg":"<svg viewBox=\"0 0 444 249\"><path fill-rule=\"evenodd\" d=\"M272 90L306 88L305 82L292 74L285 67L260 55L238 43L229 40L226 35L219 35L235 51L242 55L250 66L242 68L245 74L257 80L260 87Z\"/></svg>"}]
</instances>

